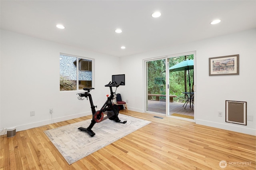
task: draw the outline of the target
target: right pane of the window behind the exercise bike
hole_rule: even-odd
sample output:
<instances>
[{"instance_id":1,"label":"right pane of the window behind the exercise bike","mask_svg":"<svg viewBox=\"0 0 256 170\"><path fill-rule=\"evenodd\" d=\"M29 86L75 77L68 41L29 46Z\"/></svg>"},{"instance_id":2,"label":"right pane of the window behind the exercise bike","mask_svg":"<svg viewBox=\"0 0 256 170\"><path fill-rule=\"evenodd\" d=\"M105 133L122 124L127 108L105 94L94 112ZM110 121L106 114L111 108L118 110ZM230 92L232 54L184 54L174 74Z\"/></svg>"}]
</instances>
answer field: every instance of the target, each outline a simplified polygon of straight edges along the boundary
<instances>
[{"instance_id":1,"label":"right pane of the window behind the exercise bike","mask_svg":"<svg viewBox=\"0 0 256 170\"><path fill-rule=\"evenodd\" d=\"M92 60L88 59L78 59L80 68L78 71L79 87L78 89L83 89L84 87L92 87Z\"/></svg>"}]
</instances>

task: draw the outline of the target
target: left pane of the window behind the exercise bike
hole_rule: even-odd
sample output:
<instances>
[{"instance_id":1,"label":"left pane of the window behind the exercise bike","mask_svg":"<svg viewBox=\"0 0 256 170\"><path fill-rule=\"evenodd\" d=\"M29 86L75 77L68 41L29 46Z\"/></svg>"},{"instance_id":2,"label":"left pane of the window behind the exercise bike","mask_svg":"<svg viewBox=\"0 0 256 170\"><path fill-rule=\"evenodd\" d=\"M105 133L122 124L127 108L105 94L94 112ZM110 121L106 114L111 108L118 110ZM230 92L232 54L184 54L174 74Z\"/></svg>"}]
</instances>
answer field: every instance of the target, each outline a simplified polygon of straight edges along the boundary
<instances>
[{"instance_id":1,"label":"left pane of the window behind the exercise bike","mask_svg":"<svg viewBox=\"0 0 256 170\"><path fill-rule=\"evenodd\" d=\"M76 90L76 57L60 55L60 91Z\"/></svg>"}]
</instances>

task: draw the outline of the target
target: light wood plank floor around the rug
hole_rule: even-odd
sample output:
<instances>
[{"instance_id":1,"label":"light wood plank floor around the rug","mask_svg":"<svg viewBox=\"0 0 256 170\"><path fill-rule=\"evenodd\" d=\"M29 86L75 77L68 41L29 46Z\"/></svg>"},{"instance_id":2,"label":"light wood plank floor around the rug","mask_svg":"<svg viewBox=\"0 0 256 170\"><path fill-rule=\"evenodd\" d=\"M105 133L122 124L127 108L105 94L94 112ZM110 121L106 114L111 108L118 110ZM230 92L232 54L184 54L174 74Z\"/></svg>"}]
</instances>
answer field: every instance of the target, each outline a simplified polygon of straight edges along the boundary
<instances>
[{"instance_id":1,"label":"light wood plank floor around the rug","mask_svg":"<svg viewBox=\"0 0 256 170\"><path fill-rule=\"evenodd\" d=\"M148 113L120 113L152 123L71 165L44 130L91 116L16 132L12 138L0 138L0 170L218 170L222 169L219 165L222 160L227 162L225 170L256 169L256 136L169 117L158 119Z\"/></svg>"}]
</instances>

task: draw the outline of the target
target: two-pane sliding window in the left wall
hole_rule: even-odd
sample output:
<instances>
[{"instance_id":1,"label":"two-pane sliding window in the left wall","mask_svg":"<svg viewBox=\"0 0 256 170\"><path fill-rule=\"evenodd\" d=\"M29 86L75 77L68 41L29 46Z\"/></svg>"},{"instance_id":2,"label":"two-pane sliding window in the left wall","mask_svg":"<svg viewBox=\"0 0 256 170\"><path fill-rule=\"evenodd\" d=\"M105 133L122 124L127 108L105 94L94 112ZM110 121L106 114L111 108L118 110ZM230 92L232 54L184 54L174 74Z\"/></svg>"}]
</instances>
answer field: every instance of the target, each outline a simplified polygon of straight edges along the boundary
<instances>
[{"instance_id":1,"label":"two-pane sliding window in the left wall","mask_svg":"<svg viewBox=\"0 0 256 170\"><path fill-rule=\"evenodd\" d=\"M60 91L92 87L92 64L92 59L60 54Z\"/></svg>"}]
</instances>

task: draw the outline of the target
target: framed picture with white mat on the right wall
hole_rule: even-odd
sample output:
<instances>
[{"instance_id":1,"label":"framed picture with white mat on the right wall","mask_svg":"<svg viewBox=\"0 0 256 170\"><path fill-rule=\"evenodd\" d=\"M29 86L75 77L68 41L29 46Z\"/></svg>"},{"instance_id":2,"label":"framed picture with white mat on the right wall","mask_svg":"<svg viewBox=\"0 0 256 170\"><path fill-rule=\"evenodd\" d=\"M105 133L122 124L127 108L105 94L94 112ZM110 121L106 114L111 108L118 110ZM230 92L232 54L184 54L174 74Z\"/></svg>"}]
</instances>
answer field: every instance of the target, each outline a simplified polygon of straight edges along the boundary
<instances>
[{"instance_id":1,"label":"framed picture with white mat on the right wall","mask_svg":"<svg viewBox=\"0 0 256 170\"><path fill-rule=\"evenodd\" d=\"M209 75L239 75L239 54L209 58Z\"/></svg>"}]
</instances>

